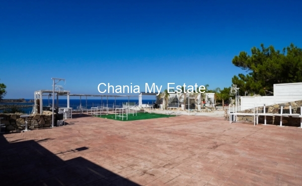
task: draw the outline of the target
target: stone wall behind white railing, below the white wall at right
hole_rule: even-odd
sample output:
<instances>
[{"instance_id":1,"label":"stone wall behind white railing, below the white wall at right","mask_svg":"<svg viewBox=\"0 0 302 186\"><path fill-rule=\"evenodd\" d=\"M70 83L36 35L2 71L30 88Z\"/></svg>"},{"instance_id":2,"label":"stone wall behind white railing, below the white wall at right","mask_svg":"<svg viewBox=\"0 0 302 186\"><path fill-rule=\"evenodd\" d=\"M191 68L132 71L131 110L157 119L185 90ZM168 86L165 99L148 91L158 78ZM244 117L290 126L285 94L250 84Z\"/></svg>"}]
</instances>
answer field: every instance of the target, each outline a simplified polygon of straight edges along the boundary
<instances>
[{"instance_id":1,"label":"stone wall behind white railing, below the white wall at right","mask_svg":"<svg viewBox=\"0 0 302 186\"><path fill-rule=\"evenodd\" d=\"M275 104L270 106L265 106L265 113L273 113L277 114L281 111L281 105L283 105L283 113L289 113L289 106L291 105L291 113L292 114L300 114L302 106L302 100L295 102L288 102L283 104ZM263 106L258 107L258 113L263 113ZM255 108L255 113L256 113ZM240 111L239 113L254 113L254 109L248 109L244 111ZM238 116L239 121L245 122L254 122L254 116ZM259 116L259 124L264 123L264 116ZM266 124L270 125L280 125L280 116L266 116ZM293 117L282 117L282 125L284 126L300 126L300 118Z\"/></svg>"}]
</instances>

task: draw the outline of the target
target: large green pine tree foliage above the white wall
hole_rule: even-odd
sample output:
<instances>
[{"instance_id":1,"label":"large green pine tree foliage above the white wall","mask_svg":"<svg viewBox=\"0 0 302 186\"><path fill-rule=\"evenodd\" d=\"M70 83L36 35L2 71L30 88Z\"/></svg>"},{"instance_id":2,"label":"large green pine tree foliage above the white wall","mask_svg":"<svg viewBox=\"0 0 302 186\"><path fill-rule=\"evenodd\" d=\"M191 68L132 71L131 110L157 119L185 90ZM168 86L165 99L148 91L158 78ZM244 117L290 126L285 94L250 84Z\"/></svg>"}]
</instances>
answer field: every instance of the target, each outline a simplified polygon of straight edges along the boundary
<instances>
[{"instance_id":1,"label":"large green pine tree foliage above the white wall","mask_svg":"<svg viewBox=\"0 0 302 186\"><path fill-rule=\"evenodd\" d=\"M266 95L266 90L273 91L273 84L302 82L302 49L293 44L283 48L280 52L273 46L261 49L253 47L252 54L240 52L235 56L233 64L248 72L232 78L233 84L237 84L239 94Z\"/></svg>"}]
</instances>

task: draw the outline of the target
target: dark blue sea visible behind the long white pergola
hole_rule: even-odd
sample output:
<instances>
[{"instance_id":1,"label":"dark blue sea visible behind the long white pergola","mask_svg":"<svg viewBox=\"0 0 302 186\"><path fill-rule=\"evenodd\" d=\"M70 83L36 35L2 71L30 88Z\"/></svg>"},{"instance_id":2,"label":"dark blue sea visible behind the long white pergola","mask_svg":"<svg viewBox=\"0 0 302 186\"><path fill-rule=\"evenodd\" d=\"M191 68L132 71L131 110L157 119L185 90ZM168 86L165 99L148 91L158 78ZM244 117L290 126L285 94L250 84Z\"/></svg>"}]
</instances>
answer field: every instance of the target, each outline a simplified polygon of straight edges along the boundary
<instances>
[{"instance_id":1,"label":"dark blue sea visible behind the long white pergola","mask_svg":"<svg viewBox=\"0 0 302 186\"><path fill-rule=\"evenodd\" d=\"M27 102L29 102L32 99L25 99ZM142 100L142 104L153 104L155 102L155 100ZM138 105L138 100L109 100L108 99L108 107L113 107L115 106L122 106L123 103L131 103L131 105ZM43 99L43 107L51 107L52 104L52 99L48 100L48 99ZM80 107L80 105L82 104L82 107L86 107L88 109L92 108L92 107L97 107L97 106L106 106L107 105L107 100L106 99L88 99L86 101L86 99L70 99L69 100L69 107L71 107L72 109L77 109L77 107ZM1 105L28 105L31 107L28 108L22 108L23 113L25 114L30 114L33 110L33 105L34 103L1 103ZM56 99L54 100L54 105L56 106ZM67 107L67 99L59 99L58 100L58 107ZM0 113L2 113L3 111L0 111Z\"/></svg>"}]
</instances>

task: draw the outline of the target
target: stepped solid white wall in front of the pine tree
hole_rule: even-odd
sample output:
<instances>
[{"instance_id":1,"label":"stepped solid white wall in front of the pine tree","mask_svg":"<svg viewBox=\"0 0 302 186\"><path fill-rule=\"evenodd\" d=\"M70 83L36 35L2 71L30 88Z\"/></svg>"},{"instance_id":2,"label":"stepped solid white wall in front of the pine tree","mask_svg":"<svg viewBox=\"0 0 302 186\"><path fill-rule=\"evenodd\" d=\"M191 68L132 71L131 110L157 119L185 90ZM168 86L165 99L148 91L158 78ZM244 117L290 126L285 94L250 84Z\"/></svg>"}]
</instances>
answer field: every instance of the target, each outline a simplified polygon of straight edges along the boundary
<instances>
[{"instance_id":1,"label":"stepped solid white wall in front of the pine tree","mask_svg":"<svg viewBox=\"0 0 302 186\"><path fill-rule=\"evenodd\" d=\"M274 84L274 96L241 97L240 110L302 100L302 82Z\"/></svg>"}]
</instances>

